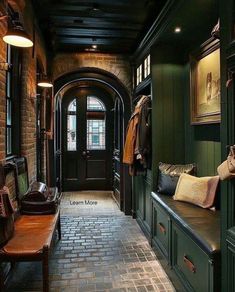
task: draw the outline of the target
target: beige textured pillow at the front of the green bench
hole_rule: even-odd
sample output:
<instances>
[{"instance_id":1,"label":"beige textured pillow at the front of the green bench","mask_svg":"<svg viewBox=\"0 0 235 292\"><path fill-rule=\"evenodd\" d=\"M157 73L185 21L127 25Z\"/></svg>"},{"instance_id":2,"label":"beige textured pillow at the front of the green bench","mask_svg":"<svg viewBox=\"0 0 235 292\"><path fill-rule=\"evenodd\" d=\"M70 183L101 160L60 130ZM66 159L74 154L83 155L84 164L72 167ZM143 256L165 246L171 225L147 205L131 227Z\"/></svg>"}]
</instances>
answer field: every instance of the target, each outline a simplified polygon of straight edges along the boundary
<instances>
[{"instance_id":1,"label":"beige textured pillow at the front of the green bench","mask_svg":"<svg viewBox=\"0 0 235 292\"><path fill-rule=\"evenodd\" d=\"M174 200L189 202L202 208L210 208L215 199L219 176L195 177L180 175Z\"/></svg>"}]
</instances>

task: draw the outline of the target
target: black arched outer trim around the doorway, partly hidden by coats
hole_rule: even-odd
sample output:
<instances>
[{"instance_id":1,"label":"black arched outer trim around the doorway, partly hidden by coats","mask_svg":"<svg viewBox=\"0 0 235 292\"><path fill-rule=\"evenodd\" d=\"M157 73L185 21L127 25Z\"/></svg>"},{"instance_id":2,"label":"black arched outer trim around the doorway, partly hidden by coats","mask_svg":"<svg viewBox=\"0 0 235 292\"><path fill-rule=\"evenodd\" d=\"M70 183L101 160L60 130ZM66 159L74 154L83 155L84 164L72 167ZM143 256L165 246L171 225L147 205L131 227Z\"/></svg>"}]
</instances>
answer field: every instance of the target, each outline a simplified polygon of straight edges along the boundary
<instances>
[{"instance_id":1,"label":"black arched outer trim around the doorway, partly hidden by coats","mask_svg":"<svg viewBox=\"0 0 235 292\"><path fill-rule=\"evenodd\" d=\"M121 100L123 106L123 134L127 127L127 123L131 112L131 99L128 89L123 83L112 73L107 72L99 68L81 68L77 71L69 72L57 78L54 81L54 108L55 108L55 132L54 141L51 141L50 145L50 158L53 161L53 165L50 167L51 180L56 183L58 178L61 178L60 160L58 159L58 153L60 153L60 134L58 133L58 127L61 121L61 94L60 92L66 88L66 86L72 86L73 83L77 84L84 81L93 81L97 84L106 86L109 90L113 90L117 98ZM53 143L53 144L52 144ZM122 190L123 190L123 211L125 214L131 214L131 179L128 175L128 169L122 165Z\"/></svg>"}]
</instances>

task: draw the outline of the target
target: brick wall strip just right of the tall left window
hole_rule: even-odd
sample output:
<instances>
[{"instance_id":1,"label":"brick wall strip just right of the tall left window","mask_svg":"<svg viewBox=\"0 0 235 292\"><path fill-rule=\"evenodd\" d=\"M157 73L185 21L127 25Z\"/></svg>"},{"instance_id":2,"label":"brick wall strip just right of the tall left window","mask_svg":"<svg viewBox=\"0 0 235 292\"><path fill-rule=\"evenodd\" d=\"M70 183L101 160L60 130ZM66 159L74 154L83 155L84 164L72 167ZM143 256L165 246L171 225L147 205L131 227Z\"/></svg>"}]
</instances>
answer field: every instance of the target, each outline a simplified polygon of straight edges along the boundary
<instances>
[{"instance_id":1,"label":"brick wall strip just right of the tall left window","mask_svg":"<svg viewBox=\"0 0 235 292\"><path fill-rule=\"evenodd\" d=\"M22 86L22 129L21 141L22 148L21 154L27 157L29 178L30 180L36 179L36 100L30 99L31 96L36 96L36 62L37 58L40 59L41 64L46 71L46 51L35 23L33 8L30 1L26 1L23 10L24 26L30 35L33 35L33 27L35 27L35 47L34 56L33 48L24 50L23 53L23 86Z\"/></svg>"}]
</instances>

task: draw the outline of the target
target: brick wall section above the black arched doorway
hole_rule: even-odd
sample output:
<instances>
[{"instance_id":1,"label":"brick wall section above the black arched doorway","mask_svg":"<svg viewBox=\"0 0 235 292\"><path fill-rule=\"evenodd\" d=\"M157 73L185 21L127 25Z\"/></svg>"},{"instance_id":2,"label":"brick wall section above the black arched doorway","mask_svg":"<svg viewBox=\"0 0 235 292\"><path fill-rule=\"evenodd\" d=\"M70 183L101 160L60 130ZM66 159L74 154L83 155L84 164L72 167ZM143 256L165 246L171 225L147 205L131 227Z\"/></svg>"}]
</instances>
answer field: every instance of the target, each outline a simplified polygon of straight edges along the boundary
<instances>
[{"instance_id":1,"label":"brick wall section above the black arched doorway","mask_svg":"<svg viewBox=\"0 0 235 292\"><path fill-rule=\"evenodd\" d=\"M130 62L129 58L123 55L94 52L58 54L53 62L53 79L83 67L99 68L114 74L131 92Z\"/></svg>"}]
</instances>

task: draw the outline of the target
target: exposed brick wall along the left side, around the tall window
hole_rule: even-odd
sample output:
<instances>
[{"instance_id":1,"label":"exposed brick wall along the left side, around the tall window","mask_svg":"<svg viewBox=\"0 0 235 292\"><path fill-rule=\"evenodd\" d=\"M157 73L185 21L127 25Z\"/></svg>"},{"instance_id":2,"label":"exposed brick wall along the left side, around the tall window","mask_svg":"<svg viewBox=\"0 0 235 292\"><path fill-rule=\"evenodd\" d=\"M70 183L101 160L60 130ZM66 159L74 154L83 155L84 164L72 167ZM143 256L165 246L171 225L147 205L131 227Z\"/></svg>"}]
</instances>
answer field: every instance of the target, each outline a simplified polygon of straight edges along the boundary
<instances>
[{"instance_id":1,"label":"exposed brick wall along the left side, around the tall window","mask_svg":"<svg viewBox=\"0 0 235 292\"><path fill-rule=\"evenodd\" d=\"M37 58L46 69L46 51L43 40L35 22L34 12L29 0L10 0L9 3L20 12L24 27L30 36L35 28L35 48L22 49L22 91L21 91L21 155L28 159L29 179L36 177L36 61ZM2 36L6 32L6 22L0 22L0 61L6 60L6 44ZM0 71L0 159L5 153L5 106L6 106L6 73Z\"/></svg>"}]
</instances>

